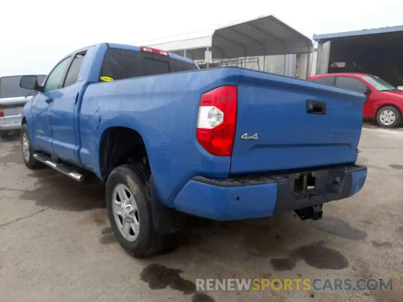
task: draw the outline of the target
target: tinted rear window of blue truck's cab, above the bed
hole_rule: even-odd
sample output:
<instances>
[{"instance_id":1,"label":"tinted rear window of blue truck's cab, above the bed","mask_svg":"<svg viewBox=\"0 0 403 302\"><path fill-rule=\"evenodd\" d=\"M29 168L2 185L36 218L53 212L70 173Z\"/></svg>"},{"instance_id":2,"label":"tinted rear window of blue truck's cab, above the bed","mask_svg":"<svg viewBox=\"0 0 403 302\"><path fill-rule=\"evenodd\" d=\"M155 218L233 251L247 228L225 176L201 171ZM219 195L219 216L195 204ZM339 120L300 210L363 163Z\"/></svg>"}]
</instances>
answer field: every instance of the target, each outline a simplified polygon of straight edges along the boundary
<instances>
[{"instance_id":1,"label":"tinted rear window of blue truck's cab, above the bed","mask_svg":"<svg viewBox=\"0 0 403 302\"><path fill-rule=\"evenodd\" d=\"M159 54L108 48L102 61L100 78L121 80L197 69L195 64Z\"/></svg>"}]
</instances>

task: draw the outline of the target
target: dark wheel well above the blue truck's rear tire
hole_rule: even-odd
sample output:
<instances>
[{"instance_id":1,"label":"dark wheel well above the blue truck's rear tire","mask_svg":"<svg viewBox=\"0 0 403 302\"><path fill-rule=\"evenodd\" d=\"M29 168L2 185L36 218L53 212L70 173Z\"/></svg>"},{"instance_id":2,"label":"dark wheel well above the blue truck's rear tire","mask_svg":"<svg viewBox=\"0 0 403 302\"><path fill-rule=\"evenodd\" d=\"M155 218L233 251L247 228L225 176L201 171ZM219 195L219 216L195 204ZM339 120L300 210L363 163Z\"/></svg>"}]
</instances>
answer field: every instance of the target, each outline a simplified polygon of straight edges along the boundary
<instances>
[{"instance_id":1,"label":"dark wheel well above the blue truck's rear tire","mask_svg":"<svg viewBox=\"0 0 403 302\"><path fill-rule=\"evenodd\" d=\"M143 162L150 173L147 151L139 132L127 127L111 127L104 131L100 143L100 172L103 180L114 168L125 163Z\"/></svg>"}]
</instances>

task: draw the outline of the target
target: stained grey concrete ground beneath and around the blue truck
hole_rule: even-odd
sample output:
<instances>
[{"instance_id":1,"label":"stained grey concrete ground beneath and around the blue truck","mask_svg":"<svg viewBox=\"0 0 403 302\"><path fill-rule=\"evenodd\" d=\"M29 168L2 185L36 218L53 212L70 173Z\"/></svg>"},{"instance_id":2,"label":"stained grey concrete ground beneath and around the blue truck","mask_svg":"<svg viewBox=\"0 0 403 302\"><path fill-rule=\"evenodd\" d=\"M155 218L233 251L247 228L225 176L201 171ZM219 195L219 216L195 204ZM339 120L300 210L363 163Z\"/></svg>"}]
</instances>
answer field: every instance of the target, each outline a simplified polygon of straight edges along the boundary
<instances>
[{"instance_id":1,"label":"stained grey concrete ground beneath and around the blue truck","mask_svg":"<svg viewBox=\"0 0 403 302\"><path fill-rule=\"evenodd\" d=\"M181 246L136 260L116 242L104 188L25 168L18 138L0 141L0 301L403 301L403 131L363 128L364 189L293 213L206 223ZM383 291L195 292L196 278L393 278Z\"/></svg>"}]
</instances>

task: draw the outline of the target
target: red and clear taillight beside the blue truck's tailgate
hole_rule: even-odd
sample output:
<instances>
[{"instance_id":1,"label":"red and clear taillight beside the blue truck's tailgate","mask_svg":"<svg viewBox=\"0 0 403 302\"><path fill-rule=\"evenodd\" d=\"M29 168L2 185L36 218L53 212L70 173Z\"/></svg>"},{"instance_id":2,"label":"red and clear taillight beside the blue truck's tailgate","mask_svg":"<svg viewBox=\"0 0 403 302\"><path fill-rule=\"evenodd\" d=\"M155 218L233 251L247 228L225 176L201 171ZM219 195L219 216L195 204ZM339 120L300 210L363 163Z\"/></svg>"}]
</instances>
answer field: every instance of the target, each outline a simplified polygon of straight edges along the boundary
<instances>
[{"instance_id":1,"label":"red and clear taillight beside the blue truck's tailgate","mask_svg":"<svg viewBox=\"0 0 403 302\"><path fill-rule=\"evenodd\" d=\"M197 116L197 141L212 155L231 156L237 125L237 86L203 93Z\"/></svg>"}]
</instances>

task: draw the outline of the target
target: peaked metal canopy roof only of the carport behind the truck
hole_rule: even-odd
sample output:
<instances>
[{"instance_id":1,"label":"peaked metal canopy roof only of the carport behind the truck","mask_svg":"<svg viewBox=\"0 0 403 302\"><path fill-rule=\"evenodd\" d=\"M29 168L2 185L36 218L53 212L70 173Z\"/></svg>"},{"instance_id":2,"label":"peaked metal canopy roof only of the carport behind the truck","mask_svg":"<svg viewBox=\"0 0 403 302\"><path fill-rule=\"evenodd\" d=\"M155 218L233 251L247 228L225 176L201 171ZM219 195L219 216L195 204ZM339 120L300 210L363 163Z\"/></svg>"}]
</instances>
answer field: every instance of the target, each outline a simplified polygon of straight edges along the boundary
<instances>
[{"instance_id":1,"label":"peaked metal canopy roof only of the carport behind the truck","mask_svg":"<svg viewBox=\"0 0 403 302\"><path fill-rule=\"evenodd\" d=\"M273 15L241 21L186 35L135 43L204 60L207 48L213 59L298 54L312 51L312 40Z\"/></svg>"}]
</instances>

